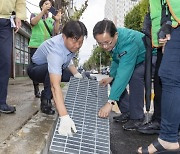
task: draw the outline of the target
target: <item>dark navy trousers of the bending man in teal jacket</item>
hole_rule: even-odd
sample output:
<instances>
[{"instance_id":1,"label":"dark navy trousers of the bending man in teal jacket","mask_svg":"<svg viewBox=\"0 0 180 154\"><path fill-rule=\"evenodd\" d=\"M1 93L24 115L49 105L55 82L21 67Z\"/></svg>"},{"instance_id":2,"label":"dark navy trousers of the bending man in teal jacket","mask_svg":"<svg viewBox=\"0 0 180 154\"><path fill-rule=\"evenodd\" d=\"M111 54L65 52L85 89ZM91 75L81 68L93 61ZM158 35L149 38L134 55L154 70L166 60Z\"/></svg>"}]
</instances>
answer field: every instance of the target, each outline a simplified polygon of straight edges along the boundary
<instances>
[{"instance_id":1,"label":"dark navy trousers of the bending man in teal jacket","mask_svg":"<svg viewBox=\"0 0 180 154\"><path fill-rule=\"evenodd\" d=\"M152 72L154 72L156 59L156 56L153 56ZM130 119L141 119L144 117L144 71L144 63L135 67L129 82L129 94L125 90L118 102L120 111L122 113L129 112Z\"/></svg>"}]
</instances>

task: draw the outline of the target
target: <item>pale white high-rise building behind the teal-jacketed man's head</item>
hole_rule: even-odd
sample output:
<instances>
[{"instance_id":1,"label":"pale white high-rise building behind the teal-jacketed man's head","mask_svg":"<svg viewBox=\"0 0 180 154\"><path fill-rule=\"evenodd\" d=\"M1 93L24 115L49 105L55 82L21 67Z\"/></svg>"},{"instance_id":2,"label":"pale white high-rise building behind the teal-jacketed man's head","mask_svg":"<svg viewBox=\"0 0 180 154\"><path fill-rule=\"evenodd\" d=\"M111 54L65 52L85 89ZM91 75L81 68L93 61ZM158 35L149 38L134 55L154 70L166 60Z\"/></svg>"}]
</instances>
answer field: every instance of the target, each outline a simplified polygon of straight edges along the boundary
<instances>
[{"instance_id":1,"label":"pale white high-rise building behind the teal-jacketed man's head","mask_svg":"<svg viewBox=\"0 0 180 154\"><path fill-rule=\"evenodd\" d=\"M106 0L105 18L117 27L124 27L124 17L140 0Z\"/></svg>"}]
</instances>

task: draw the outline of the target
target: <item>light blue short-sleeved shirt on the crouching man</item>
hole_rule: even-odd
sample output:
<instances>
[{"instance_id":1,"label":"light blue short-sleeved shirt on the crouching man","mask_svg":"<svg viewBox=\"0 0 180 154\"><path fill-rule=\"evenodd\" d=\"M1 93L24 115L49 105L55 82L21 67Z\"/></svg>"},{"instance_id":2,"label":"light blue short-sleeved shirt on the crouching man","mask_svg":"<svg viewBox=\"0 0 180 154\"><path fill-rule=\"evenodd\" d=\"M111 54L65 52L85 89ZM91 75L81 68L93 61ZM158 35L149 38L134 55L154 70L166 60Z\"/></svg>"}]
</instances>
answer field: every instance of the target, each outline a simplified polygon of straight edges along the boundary
<instances>
[{"instance_id":1,"label":"light blue short-sleeved shirt on the crouching man","mask_svg":"<svg viewBox=\"0 0 180 154\"><path fill-rule=\"evenodd\" d=\"M60 34L43 43L32 57L32 62L38 65L48 63L49 73L62 75L62 69L69 65L74 56L75 53L67 49Z\"/></svg>"}]
</instances>

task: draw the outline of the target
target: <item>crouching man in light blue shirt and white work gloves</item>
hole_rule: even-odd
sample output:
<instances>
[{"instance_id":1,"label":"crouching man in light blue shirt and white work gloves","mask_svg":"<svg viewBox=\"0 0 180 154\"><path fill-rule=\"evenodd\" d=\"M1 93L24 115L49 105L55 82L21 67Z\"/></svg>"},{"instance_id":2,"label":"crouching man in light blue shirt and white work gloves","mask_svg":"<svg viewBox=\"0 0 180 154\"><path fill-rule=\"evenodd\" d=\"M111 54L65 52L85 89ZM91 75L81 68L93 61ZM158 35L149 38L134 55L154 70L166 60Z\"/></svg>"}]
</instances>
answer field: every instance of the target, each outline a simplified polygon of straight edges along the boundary
<instances>
[{"instance_id":1,"label":"crouching man in light blue shirt and white work gloves","mask_svg":"<svg viewBox=\"0 0 180 154\"><path fill-rule=\"evenodd\" d=\"M32 57L32 64L28 67L28 75L33 81L44 84L41 94L41 111L52 115L51 98L53 97L57 111L61 118L59 133L72 135L71 129L76 132L75 124L69 117L60 82L67 82L70 76L82 78L73 65L72 58L81 48L87 29L80 21L69 21L57 35L42 43Z\"/></svg>"}]
</instances>

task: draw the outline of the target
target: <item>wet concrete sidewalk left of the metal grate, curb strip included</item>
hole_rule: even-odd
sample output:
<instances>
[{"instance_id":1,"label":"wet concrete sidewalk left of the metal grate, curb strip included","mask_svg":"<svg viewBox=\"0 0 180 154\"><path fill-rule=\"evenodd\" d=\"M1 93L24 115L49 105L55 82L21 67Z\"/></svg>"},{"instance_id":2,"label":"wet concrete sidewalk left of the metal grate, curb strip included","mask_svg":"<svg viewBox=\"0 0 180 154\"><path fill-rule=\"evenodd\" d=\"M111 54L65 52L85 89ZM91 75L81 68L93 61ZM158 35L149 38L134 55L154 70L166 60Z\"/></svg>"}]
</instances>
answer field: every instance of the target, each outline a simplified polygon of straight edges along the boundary
<instances>
[{"instance_id":1,"label":"wet concrete sidewalk left of the metal grate, curb strip included","mask_svg":"<svg viewBox=\"0 0 180 154\"><path fill-rule=\"evenodd\" d=\"M0 154L47 153L57 114L48 116L39 111L40 99L34 97L29 78L10 79L7 100L16 106L16 113L0 116Z\"/></svg>"}]
</instances>

